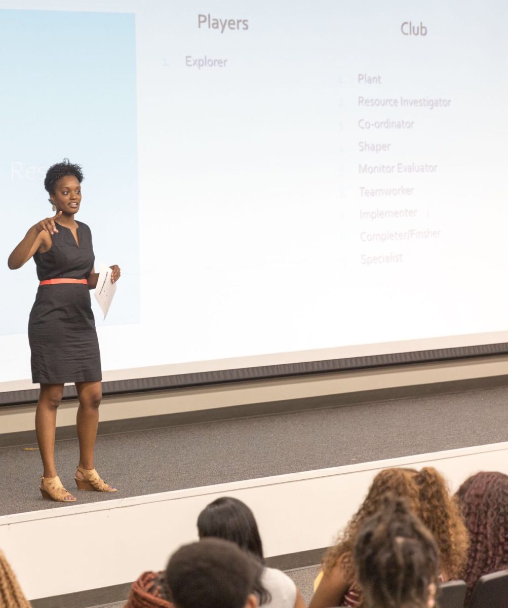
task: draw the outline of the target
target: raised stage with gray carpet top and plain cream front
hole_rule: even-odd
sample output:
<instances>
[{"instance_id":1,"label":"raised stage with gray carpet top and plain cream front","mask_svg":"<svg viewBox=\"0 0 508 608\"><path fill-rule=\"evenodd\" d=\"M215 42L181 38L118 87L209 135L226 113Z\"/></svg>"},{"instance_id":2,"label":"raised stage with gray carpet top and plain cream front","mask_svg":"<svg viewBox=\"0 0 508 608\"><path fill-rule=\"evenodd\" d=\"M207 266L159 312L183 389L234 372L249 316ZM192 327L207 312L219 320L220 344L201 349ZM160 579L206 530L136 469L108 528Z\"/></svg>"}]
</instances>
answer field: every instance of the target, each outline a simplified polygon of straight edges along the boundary
<instances>
[{"instance_id":1,"label":"raised stage with gray carpet top and plain cream front","mask_svg":"<svg viewBox=\"0 0 508 608\"><path fill-rule=\"evenodd\" d=\"M203 506L232 494L280 567L316 563L380 468L431 464L453 488L479 469L508 473L507 404L501 388L102 435L97 468L118 492L73 505L41 499L36 446L4 447L0 547L35 608L92 606L95 589L121 600L196 538ZM58 441L71 491L76 461L77 440Z\"/></svg>"}]
</instances>

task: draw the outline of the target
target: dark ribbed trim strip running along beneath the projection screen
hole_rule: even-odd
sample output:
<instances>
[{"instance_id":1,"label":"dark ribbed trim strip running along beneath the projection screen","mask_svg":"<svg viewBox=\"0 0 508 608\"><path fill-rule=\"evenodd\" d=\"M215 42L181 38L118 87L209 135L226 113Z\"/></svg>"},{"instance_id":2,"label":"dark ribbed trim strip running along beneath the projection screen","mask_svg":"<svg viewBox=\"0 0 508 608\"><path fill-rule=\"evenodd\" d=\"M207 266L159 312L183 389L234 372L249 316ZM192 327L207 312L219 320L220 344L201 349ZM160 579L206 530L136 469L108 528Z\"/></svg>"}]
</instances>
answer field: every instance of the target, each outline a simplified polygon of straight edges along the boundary
<instances>
[{"instance_id":1,"label":"dark ribbed trim strip running along beneath the projection screen","mask_svg":"<svg viewBox=\"0 0 508 608\"><path fill-rule=\"evenodd\" d=\"M283 365L263 365L244 367L232 370L205 371L154 378L134 378L103 382L103 395L122 395L124 393L142 393L154 390L184 389L232 382L249 382L292 376L309 376L337 371L353 371L369 368L392 367L394 365L414 365L454 359L472 359L508 354L508 343L483 344L472 347L440 348L436 350L410 351L407 353L379 354L369 357L351 357L348 359L328 359L326 361L308 361ZM38 389L9 391L0 393L0 406L12 406L35 403ZM75 399L74 386L64 387L64 399Z\"/></svg>"}]
</instances>

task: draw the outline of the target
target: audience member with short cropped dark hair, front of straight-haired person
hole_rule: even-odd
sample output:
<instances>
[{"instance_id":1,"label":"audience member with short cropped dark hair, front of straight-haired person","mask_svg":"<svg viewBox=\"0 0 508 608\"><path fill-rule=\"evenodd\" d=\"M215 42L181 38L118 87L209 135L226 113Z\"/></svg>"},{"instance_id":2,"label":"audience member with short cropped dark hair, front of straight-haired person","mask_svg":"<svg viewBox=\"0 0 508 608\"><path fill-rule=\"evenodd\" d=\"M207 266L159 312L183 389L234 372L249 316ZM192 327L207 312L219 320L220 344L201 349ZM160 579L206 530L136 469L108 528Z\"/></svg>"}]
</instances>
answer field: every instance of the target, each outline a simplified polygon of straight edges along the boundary
<instances>
[{"instance_id":1,"label":"audience member with short cropped dark hair, front of straight-haired person","mask_svg":"<svg viewBox=\"0 0 508 608\"><path fill-rule=\"evenodd\" d=\"M209 538L171 556L166 584L174 608L257 608L261 568L233 542Z\"/></svg>"}]
</instances>

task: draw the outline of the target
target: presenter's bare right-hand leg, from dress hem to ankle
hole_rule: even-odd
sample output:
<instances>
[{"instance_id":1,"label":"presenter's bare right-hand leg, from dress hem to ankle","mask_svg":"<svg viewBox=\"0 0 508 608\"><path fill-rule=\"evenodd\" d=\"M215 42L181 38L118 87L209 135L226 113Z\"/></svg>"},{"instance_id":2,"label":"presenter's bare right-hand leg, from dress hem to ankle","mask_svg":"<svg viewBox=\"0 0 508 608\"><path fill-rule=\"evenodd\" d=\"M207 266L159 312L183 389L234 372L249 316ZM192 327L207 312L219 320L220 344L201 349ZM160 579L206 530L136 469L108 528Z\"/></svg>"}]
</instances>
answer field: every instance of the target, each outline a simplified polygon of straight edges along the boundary
<instances>
[{"instance_id":1,"label":"presenter's bare right-hand leg, from dress hem to ankle","mask_svg":"<svg viewBox=\"0 0 508 608\"><path fill-rule=\"evenodd\" d=\"M78 439L80 440L80 467L82 469L94 468L94 446L99 423L99 406L102 398L101 383L76 382L80 407L76 424Z\"/></svg>"}]
</instances>

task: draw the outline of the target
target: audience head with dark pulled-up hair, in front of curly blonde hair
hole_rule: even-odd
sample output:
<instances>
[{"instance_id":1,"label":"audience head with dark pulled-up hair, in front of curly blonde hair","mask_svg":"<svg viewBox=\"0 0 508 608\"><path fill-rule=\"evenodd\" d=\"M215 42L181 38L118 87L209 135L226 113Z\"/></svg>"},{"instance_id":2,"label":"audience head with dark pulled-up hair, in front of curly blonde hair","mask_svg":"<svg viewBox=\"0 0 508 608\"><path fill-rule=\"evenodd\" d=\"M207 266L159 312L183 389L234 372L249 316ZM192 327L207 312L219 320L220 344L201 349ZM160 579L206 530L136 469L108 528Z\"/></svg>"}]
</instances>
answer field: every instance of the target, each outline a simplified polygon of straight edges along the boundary
<instances>
[{"instance_id":1,"label":"audience head with dark pulled-up hair, in front of curly blonde hair","mask_svg":"<svg viewBox=\"0 0 508 608\"><path fill-rule=\"evenodd\" d=\"M369 608L433 608L438 547L407 501L387 500L360 527L354 562Z\"/></svg>"}]
</instances>

